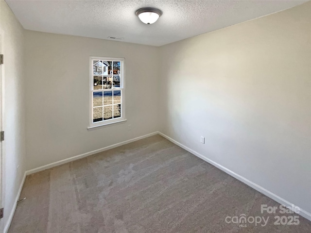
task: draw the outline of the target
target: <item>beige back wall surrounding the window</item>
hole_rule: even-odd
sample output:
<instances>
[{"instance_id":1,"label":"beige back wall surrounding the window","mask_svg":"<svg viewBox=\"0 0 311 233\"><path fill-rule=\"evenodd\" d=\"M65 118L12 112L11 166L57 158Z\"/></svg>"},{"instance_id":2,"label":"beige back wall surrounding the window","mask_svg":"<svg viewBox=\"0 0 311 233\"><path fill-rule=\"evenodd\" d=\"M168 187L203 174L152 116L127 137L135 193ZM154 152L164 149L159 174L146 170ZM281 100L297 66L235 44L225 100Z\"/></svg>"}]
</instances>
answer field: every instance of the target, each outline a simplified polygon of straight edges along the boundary
<instances>
[{"instance_id":1,"label":"beige back wall surrounding the window","mask_svg":"<svg viewBox=\"0 0 311 233\"><path fill-rule=\"evenodd\" d=\"M157 47L33 31L25 37L27 169L157 130ZM126 123L87 131L89 56L125 58Z\"/></svg>"}]
</instances>

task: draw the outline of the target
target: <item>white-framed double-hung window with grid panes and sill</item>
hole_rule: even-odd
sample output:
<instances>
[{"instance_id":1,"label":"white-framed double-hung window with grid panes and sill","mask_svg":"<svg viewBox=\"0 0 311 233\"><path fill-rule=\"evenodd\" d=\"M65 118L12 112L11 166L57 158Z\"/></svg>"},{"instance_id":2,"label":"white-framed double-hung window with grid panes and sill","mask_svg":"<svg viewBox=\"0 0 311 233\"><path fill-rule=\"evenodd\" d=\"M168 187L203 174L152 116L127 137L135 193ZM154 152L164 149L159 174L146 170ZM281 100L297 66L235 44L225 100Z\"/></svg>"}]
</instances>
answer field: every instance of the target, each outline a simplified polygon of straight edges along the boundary
<instances>
[{"instance_id":1,"label":"white-framed double-hung window with grid panes and sill","mask_svg":"<svg viewBox=\"0 0 311 233\"><path fill-rule=\"evenodd\" d=\"M90 57L90 126L125 121L124 58Z\"/></svg>"}]
</instances>

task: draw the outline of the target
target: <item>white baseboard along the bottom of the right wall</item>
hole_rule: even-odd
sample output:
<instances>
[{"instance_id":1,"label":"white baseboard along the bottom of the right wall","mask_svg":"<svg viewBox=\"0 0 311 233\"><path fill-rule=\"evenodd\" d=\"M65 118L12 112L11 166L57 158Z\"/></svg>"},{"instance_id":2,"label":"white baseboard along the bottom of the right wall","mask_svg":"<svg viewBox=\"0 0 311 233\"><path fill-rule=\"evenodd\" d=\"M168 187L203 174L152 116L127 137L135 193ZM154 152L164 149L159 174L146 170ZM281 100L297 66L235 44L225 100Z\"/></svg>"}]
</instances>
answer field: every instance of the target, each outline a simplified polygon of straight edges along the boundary
<instances>
[{"instance_id":1,"label":"white baseboard along the bottom of the right wall","mask_svg":"<svg viewBox=\"0 0 311 233\"><path fill-rule=\"evenodd\" d=\"M196 152L196 151L194 151L194 150L191 150L189 147L186 147L186 146L184 146L183 144L181 144L181 143L175 141L173 138L171 138L171 137L165 135L164 133L159 132L159 134L160 134L161 136L165 137L166 139L170 140L171 142L173 142L173 143L176 144L177 146L179 146L179 147L181 147L181 148L183 148L183 149L189 151L191 154L194 154L195 156L197 156L197 157L199 157L199 158L205 160L207 163L209 163L209 164L211 164L211 165L213 165L213 166L216 166L217 168L221 169L221 170L224 171L225 173L229 174L230 176L233 176L234 178L236 178L236 179L238 179L239 181L241 181L241 182L247 184L248 186L254 188L255 190L259 191L260 193L266 195L267 197L269 197L269 198L275 200L276 202L278 202L278 203L280 203L280 204L282 204L282 205L285 205L285 206L287 206L287 207L295 206L295 205L294 205L293 203L291 203L290 201L287 201L287 200L285 200L285 199L283 199L283 198L277 196L276 194L274 194L274 193L270 192L269 190L267 190L267 189L265 189L265 188L259 186L258 184L254 183L254 182L251 182L251 181L247 180L246 178L242 177L241 175L239 175L239 174L237 174L237 173L235 173L235 172L229 170L229 169L226 168L225 166L222 166L222 165L220 165L220 164L218 164L218 163L216 163L216 162L214 162L214 161L208 159L208 158L205 157L204 155L202 155L202 154L200 154L200 153L198 153L198 152ZM299 207L299 206L298 206L298 207ZM299 208L300 208L300 207L299 207ZM290 208L290 209L291 209L291 208ZM299 214L299 215L301 215L301 216L303 216L303 217L305 217L305 218L307 218L308 220L311 221L311 213L309 213L309 212L307 212L307 211L305 211L305 210L303 210L303 209L300 208L300 211L299 211L299 213L297 213L297 214Z\"/></svg>"}]
</instances>

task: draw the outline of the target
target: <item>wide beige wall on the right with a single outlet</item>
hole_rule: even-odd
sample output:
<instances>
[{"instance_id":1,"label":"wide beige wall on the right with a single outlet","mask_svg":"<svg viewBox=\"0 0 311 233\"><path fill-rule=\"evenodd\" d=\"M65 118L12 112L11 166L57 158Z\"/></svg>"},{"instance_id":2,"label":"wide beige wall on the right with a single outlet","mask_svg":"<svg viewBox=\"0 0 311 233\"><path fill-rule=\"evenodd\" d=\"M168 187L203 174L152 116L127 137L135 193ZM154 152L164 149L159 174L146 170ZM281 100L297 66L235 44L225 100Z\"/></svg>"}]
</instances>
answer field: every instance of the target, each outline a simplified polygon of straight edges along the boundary
<instances>
[{"instance_id":1,"label":"wide beige wall on the right with a single outlet","mask_svg":"<svg viewBox=\"0 0 311 233\"><path fill-rule=\"evenodd\" d=\"M307 2L161 47L160 132L311 212L310 45Z\"/></svg>"}]
</instances>

